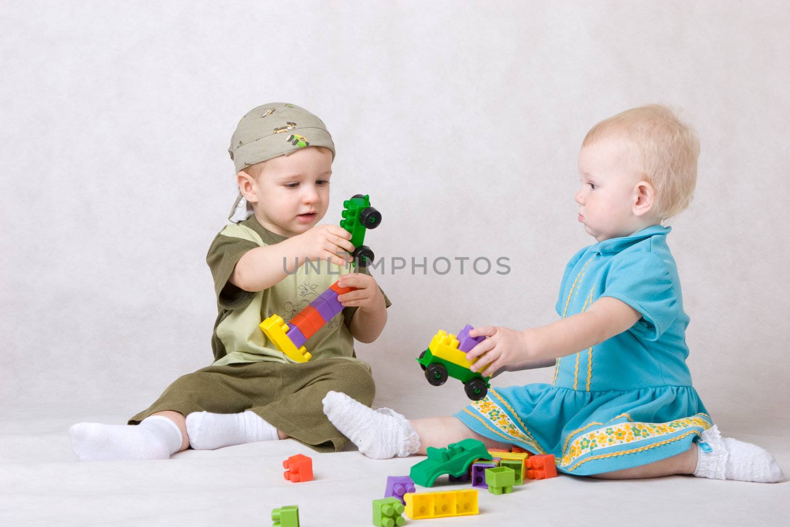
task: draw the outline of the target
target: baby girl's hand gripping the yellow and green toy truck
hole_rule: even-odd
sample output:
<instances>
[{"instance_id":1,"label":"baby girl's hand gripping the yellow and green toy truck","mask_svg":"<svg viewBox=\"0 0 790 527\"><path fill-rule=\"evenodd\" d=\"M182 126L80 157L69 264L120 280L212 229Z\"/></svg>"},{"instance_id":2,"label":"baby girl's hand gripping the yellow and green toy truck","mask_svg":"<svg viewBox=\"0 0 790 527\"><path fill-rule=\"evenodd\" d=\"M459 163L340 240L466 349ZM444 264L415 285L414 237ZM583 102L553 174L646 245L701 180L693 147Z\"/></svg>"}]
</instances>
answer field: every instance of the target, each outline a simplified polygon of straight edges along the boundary
<instances>
[{"instance_id":1,"label":"baby girl's hand gripping the yellow and green toy truck","mask_svg":"<svg viewBox=\"0 0 790 527\"><path fill-rule=\"evenodd\" d=\"M469 331L469 337L488 337L466 353L472 361L480 357L469 369L480 371L483 377L493 376L504 368L517 370L529 359L529 337L525 331L502 326L482 326Z\"/></svg>"}]
</instances>

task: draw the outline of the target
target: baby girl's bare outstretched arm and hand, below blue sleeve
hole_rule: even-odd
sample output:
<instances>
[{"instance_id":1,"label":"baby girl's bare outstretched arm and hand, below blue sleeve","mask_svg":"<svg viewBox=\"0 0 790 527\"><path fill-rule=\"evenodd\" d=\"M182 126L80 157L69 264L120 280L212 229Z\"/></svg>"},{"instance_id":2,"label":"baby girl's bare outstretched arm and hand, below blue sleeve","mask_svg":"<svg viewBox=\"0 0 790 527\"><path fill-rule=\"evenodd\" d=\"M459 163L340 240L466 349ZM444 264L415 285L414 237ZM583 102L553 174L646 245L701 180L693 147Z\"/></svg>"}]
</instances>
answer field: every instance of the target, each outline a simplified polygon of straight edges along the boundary
<instances>
[{"instance_id":1,"label":"baby girl's bare outstretched arm and hand, below blue sleeve","mask_svg":"<svg viewBox=\"0 0 790 527\"><path fill-rule=\"evenodd\" d=\"M468 360L482 356L470 368L491 375L499 368L525 370L536 364L550 365L557 357L591 348L623 333L641 314L621 300L603 296L586 311L551 322L547 326L517 331L485 326L472 329L470 337L488 337L466 354ZM547 364L548 363L548 364Z\"/></svg>"}]
</instances>

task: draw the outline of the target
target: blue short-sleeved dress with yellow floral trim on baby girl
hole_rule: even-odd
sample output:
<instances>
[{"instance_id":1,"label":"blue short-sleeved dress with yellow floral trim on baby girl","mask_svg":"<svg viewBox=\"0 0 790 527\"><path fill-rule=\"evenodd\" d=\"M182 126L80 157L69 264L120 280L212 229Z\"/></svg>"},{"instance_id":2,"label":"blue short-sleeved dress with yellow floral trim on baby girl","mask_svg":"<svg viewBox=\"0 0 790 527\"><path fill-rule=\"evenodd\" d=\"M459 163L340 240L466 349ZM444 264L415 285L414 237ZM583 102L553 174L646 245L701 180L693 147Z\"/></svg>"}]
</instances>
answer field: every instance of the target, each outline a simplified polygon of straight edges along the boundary
<instances>
[{"instance_id":1,"label":"blue short-sleeved dress with yellow floral trim on baby girl","mask_svg":"<svg viewBox=\"0 0 790 527\"><path fill-rule=\"evenodd\" d=\"M554 454L559 471L580 476L687 450L713 421L686 365L689 318L667 246L671 230L653 225L604 240L566 266L559 316L611 296L641 313L634 326L557 359L551 384L492 388L456 417L487 438Z\"/></svg>"}]
</instances>

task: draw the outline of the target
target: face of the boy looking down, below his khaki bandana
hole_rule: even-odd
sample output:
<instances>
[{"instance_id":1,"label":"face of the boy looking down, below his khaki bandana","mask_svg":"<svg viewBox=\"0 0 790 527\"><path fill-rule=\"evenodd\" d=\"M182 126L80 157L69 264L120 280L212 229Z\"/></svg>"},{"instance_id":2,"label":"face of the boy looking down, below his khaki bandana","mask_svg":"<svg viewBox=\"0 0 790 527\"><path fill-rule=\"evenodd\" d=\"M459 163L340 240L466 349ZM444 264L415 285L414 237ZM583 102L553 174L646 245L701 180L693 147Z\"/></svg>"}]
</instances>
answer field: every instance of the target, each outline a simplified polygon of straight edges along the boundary
<instances>
[{"instance_id":1,"label":"face of the boy looking down, below his khaki bandana","mask_svg":"<svg viewBox=\"0 0 790 527\"><path fill-rule=\"evenodd\" d=\"M239 175L239 186L263 227L291 237L324 217L331 176L332 152L307 147L266 161L257 182L247 178L244 183L244 175Z\"/></svg>"}]
</instances>

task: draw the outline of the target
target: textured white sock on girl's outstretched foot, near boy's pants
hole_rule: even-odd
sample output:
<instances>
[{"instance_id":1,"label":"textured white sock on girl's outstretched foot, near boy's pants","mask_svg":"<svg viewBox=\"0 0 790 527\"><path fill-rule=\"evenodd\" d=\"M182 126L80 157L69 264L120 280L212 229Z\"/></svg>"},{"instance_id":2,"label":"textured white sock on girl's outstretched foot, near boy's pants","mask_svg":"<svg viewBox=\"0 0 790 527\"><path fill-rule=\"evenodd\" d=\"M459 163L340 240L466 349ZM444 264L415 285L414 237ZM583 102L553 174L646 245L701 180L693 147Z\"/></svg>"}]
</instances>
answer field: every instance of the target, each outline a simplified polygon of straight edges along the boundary
<instances>
[{"instance_id":1,"label":"textured white sock on girl's outstretched foot, near boy's pants","mask_svg":"<svg viewBox=\"0 0 790 527\"><path fill-rule=\"evenodd\" d=\"M394 410L372 410L345 393L333 391L326 393L322 402L332 424L367 457L406 457L419 449L419 435Z\"/></svg>"}]
</instances>

